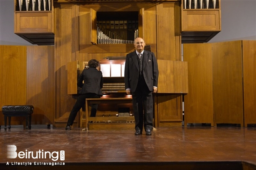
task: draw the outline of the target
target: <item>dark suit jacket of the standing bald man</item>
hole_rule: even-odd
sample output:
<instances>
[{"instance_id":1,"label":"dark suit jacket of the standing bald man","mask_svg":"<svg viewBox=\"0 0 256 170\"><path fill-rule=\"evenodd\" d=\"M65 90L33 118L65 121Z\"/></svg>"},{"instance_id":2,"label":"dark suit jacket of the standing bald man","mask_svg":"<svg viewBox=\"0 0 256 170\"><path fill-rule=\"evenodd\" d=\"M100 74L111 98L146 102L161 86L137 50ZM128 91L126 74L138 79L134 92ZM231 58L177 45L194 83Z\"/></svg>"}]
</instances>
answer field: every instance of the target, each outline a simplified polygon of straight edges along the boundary
<instances>
[{"instance_id":1,"label":"dark suit jacket of the standing bald man","mask_svg":"<svg viewBox=\"0 0 256 170\"><path fill-rule=\"evenodd\" d=\"M153 91L153 86L157 87L158 83L158 66L156 56L153 52L143 52L143 77L146 81L148 89ZM126 55L125 64L125 87L130 88L131 92L135 92L139 81L139 64L136 51Z\"/></svg>"}]
</instances>

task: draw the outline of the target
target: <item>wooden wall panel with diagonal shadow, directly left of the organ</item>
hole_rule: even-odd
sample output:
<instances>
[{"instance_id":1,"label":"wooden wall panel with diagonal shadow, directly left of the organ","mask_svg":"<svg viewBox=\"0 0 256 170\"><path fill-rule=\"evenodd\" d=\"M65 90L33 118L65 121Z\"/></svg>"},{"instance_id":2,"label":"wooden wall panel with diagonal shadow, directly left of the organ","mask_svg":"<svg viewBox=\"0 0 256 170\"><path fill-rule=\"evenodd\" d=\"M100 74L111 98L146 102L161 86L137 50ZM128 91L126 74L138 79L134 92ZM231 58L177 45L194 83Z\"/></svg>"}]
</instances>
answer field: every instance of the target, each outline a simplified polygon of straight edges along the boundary
<instances>
[{"instance_id":1,"label":"wooden wall panel with diagonal shadow, directly left of the organ","mask_svg":"<svg viewBox=\"0 0 256 170\"><path fill-rule=\"evenodd\" d=\"M54 124L54 46L27 46L26 104L34 106L31 124Z\"/></svg>"}]
</instances>

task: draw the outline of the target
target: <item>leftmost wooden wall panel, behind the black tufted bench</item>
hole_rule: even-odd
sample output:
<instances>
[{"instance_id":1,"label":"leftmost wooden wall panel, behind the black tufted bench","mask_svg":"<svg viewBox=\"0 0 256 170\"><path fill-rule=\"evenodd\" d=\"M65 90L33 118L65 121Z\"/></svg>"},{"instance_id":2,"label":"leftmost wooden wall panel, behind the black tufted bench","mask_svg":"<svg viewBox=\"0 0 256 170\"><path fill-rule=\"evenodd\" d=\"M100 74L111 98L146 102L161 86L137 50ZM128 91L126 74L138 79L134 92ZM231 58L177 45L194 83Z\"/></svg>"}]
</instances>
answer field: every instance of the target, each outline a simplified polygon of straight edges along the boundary
<instances>
[{"instance_id":1,"label":"leftmost wooden wall panel, behind the black tufted bench","mask_svg":"<svg viewBox=\"0 0 256 170\"><path fill-rule=\"evenodd\" d=\"M26 105L26 46L0 46L0 110L5 105ZM13 117L11 124L23 120Z\"/></svg>"}]
</instances>

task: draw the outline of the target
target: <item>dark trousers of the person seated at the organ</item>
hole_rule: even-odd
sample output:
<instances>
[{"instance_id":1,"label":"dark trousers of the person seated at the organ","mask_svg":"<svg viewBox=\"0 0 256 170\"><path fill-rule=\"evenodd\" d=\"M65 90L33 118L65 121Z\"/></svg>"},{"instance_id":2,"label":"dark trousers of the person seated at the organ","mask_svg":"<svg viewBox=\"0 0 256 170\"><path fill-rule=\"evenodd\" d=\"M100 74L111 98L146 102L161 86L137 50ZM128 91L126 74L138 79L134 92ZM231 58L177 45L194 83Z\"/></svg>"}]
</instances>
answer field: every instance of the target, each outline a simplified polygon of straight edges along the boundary
<instances>
[{"instance_id":1,"label":"dark trousers of the person seated at the organ","mask_svg":"<svg viewBox=\"0 0 256 170\"><path fill-rule=\"evenodd\" d=\"M78 96L78 99L77 99L75 105L73 106L73 109L70 112L67 125L69 125L69 126L73 125L74 119L76 118L78 111L82 108L82 106L85 105L86 98L100 98L100 95L95 94L95 93L80 94ZM96 116L97 108L98 108L98 104L93 104L91 106L91 117Z\"/></svg>"}]
</instances>

